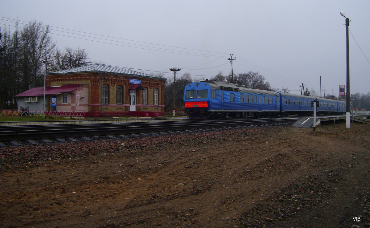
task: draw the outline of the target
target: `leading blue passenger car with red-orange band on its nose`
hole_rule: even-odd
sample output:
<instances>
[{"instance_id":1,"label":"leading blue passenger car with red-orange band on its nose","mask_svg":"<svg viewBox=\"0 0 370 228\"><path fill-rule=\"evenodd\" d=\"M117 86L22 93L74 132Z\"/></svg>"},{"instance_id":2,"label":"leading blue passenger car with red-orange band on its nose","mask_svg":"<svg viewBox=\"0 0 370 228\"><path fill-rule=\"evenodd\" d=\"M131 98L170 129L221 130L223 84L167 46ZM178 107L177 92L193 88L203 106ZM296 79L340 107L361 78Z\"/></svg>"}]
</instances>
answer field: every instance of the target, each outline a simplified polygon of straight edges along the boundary
<instances>
[{"instance_id":1,"label":"leading blue passenger car with red-orange band on its nose","mask_svg":"<svg viewBox=\"0 0 370 228\"><path fill-rule=\"evenodd\" d=\"M277 116L280 111L277 92L208 80L186 85L184 102L185 113L193 119Z\"/></svg>"}]
</instances>

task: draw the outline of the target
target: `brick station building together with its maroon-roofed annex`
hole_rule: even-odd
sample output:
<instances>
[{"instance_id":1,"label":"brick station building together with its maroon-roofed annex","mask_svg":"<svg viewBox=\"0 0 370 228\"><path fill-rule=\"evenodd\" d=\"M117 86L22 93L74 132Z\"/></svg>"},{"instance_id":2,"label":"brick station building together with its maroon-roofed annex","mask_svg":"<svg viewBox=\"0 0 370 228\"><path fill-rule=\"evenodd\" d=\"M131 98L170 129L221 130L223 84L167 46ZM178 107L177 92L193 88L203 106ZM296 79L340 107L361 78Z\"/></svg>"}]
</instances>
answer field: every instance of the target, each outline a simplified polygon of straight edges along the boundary
<instances>
[{"instance_id":1,"label":"brick station building together with its maroon-roofed annex","mask_svg":"<svg viewBox=\"0 0 370 228\"><path fill-rule=\"evenodd\" d=\"M164 116L165 78L90 64L46 74L45 110L85 116ZM16 95L18 110L43 110L44 88ZM27 107L27 108L25 108Z\"/></svg>"}]
</instances>

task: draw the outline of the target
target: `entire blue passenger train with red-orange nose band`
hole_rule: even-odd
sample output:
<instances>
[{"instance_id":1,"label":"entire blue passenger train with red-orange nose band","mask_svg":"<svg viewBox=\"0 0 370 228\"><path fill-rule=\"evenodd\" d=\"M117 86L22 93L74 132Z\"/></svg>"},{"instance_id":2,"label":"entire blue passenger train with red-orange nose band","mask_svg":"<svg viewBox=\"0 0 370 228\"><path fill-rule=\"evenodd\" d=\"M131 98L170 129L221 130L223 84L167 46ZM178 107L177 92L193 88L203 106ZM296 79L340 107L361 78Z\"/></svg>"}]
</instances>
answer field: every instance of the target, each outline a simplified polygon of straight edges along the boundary
<instances>
[{"instance_id":1,"label":"entire blue passenger train with red-orange nose band","mask_svg":"<svg viewBox=\"0 0 370 228\"><path fill-rule=\"evenodd\" d=\"M185 113L190 119L312 115L313 101L317 102L318 115L346 112L345 101L250 89L227 82L193 82L184 90Z\"/></svg>"}]
</instances>

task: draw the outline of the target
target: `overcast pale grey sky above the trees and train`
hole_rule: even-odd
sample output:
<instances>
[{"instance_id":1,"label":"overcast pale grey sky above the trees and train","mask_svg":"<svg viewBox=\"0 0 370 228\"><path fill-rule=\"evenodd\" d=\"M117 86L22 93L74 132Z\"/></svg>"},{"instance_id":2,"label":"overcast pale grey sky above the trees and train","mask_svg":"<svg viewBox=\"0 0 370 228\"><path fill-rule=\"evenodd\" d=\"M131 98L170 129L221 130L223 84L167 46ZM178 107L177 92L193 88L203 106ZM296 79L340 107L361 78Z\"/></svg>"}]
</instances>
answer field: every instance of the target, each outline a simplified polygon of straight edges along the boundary
<instances>
[{"instance_id":1,"label":"overcast pale grey sky above the trees and train","mask_svg":"<svg viewBox=\"0 0 370 228\"><path fill-rule=\"evenodd\" d=\"M350 91L370 91L369 0L1 0L1 5L0 27L14 25L7 18L42 21L53 26L58 48L85 48L90 61L164 71L166 77L173 77L169 68L179 67L176 75L210 79L218 71L230 74L227 59L233 54L236 74L258 71L273 88L300 93L303 83L319 95L320 76L326 94L334 89L338 95L339 85L346 84L346 28L339 13L344 11L354 37L350 34Z\"/></svg>"}]
</instances>

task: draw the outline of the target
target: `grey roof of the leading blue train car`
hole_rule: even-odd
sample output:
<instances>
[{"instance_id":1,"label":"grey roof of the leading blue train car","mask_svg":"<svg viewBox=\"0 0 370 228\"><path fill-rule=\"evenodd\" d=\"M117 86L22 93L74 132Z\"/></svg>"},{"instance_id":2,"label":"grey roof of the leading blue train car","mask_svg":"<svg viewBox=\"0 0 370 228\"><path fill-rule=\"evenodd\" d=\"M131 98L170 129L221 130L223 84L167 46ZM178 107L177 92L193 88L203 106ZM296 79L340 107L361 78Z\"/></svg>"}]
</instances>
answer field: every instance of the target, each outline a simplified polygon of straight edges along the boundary
<instances>
[{"instance_id":1,"label":"grey roof of the leading blue train car","mask_svg":"<svg viewBox=\"0 0 370 228\"><path fill-rule=\"evenodd\" d=\"M235 84L228 83L228 82L219 82L219 81L214 81L214 80L206 80L206 81L201 81L201 82L206 82L210 84L212 89L219 89L219 90L224 90L224 91L245 92L245 93L257 93L257 94L265 94L265 95L272 95L272 96L279 95L279 93L277 92L262 90L262 89L251 89L251 88L247 88L247 86L245 85L235 85Z\"/></svg>"}]
</instances>

